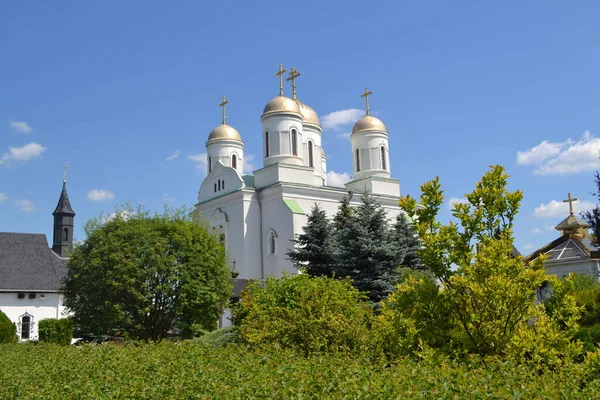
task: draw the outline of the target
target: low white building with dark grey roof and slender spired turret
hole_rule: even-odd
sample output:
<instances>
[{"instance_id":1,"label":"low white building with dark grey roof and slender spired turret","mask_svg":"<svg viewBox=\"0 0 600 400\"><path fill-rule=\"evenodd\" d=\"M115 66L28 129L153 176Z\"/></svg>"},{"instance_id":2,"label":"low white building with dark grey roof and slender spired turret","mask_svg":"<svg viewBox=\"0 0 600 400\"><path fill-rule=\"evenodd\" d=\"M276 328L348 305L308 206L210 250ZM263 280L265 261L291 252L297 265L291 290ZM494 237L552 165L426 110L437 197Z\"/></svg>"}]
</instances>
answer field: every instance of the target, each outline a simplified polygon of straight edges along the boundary
<instances>
[{"instance_id":1,"label":"low white building with dark grey roof and slender spired turret","mask_svg":"<svg viewBox=\"0 0 600 400\"><path fill-rule=\"evenodd\" d=\"M41 233L0 232L0 310L17 326L21 341L38 339L41 320L66 317L60 289L73 249L75 217L66 176L52 216L52 247Z\"/></svg>"}]
</instances>

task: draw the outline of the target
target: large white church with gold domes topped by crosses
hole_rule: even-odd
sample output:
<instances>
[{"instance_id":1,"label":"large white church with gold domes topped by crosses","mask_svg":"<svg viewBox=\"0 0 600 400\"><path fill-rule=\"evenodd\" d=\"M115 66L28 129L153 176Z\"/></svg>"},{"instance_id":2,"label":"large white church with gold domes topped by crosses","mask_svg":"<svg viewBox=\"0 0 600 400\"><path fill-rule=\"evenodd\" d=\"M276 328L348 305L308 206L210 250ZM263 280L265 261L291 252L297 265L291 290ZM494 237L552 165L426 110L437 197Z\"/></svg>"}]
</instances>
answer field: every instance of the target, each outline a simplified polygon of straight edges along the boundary
<instances>
[{"instance_id":1,"label":"large white church with gold domes topped by crosses","mask_svg":"<svg viewBox=\"0 0 600 400\"><path fill-rule=\"evenodd\" d=\"M351 204L370 192L390 218L398 207L400 182L391 177L388 131L381 120L370 115L367 88L366 115L352 129L348 157L353 160L353 177L345 188L328 186L327 156L322 145L323 128L317 113L296 98L292 68L292 97L284 96L283 73L279 66L279 95L269 100L260 120L262 132L249 133L249 140L262 140L263 165L244 171L242 135L225 119L206 141L208 175L198 193L196 214L209 221L225 242L232 268L239 280L296 273L286 253L303 231L307 214L318 203L333 216L340 201ZM344 143L345 145L345 143ZM239 287L240 285L235 285ZM234 295L235 297L235 295Z\"/></svg>"}]
</instances>

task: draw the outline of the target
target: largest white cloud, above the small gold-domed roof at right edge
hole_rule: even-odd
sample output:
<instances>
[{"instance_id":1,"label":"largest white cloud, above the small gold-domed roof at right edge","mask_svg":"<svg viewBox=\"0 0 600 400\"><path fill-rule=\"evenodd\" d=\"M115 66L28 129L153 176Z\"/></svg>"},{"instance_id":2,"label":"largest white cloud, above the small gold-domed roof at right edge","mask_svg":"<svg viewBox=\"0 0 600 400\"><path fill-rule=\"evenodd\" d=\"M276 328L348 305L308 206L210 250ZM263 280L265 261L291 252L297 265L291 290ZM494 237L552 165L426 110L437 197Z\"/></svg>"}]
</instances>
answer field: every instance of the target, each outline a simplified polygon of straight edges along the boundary
<instances>
[{"instance_id":1,"label":"largest white cloud, above the small gold-domed roof at right edge","mask_svg":"<svg viewBox=\"0 0 600 400\"><path fill-rule=\"evenodd\" d=\"M544 140L539 145L517 152L518 165L536 165L537 175L566 175L600 169L600 138L586 131L579 141L551 143Z\"/></svg>"}]
</instances>

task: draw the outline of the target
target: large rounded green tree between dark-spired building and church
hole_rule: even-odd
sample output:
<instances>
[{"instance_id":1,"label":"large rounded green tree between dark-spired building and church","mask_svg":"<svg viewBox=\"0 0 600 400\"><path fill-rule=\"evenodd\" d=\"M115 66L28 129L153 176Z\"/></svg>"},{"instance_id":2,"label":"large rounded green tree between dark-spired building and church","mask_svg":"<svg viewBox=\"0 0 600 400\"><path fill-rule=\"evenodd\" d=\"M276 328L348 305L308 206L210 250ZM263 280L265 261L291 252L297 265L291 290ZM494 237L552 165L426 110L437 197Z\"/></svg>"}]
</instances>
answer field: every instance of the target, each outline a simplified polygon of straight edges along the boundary
<instances>
[{"instance_id":1,"label":"large rounded green tree between dark-spired building and church","mask_svg":"<svg viewBox=\"0 0 600 400\"><path fill-rule=\"evenodd\" d=\"M216 327L229 297L225 250L188 215L126 207L87 224L64 282L80 330L160 340Z\"/></svg>"}]
</instances>

